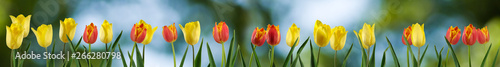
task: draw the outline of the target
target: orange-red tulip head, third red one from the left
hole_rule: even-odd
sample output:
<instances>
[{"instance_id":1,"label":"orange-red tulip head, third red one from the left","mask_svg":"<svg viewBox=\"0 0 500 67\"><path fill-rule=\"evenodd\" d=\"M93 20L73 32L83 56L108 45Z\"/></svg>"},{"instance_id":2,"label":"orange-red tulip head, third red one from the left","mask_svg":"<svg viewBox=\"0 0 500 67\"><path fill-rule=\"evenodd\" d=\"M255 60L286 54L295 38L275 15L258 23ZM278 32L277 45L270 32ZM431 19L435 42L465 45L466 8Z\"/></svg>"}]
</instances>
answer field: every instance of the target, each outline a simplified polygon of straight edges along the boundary
<instances>
[{"instance_id":1,"label":"orange-red tulip head, third red one from the left","mask_svg":"<svg viewBox=\"0 0 500 67\"><path fill-rule=\"evenodd\" d=\"M177 29L175 28L175 23L170 26L163 26L163 39L165 41L173 43L177 40Z\"/></svg>"}]
</instances>

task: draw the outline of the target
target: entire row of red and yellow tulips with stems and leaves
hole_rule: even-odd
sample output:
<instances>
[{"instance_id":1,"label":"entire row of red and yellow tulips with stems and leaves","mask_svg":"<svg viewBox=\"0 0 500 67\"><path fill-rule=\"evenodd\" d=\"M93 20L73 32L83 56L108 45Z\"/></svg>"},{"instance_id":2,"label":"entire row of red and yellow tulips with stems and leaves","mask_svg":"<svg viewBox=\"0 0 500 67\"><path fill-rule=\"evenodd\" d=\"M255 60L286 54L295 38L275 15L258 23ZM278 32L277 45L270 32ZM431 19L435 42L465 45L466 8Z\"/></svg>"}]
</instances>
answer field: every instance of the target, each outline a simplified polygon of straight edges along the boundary
<instances>
[{"instance_id":1,"label":"entire row of red and yellow tulips with stems and leaves","mask_svg":"<svg viewBox=\"0 0 500 67\"><path fill-rule=\"evenodd\" d=\"M28 15L26 17L24 15L19 15L17 17L11 16L13 23L11 24L10 27L9 26L6 27L6 29L7 29L7 39L6 39L7 41L6 42L7 42L7 46L10 49L12 49L12 55L14 55L13 53L15 52L15 50L18 49L22 45L23 38L27 37L27 34L29 34L28 27L29 27L29 23L30 23L30 18L31 18L31 15ZM119 39L121 38L122 33L119 34L119 36L115 39L114 43L111 43L112 38L113 38L112 24L106 20L104 20L99 31L97 30L98 27L95 26L94 23L91 23L90 25L86 25L84 34L82 35L82 37L80 38L80 41L78 41L76 46L73 46L73 43L71 42L73 40L75 31L76 31L75 30L76 26L78 25L77 23L75 23L75 20L72 18L66 18L66 19L64 19L64 21L62 21L62 20L60 21L60 25L61 25L60 26L61 28L60 28L60 32L59 32L59 38L61 39L61 41L63 43L71 44L70 49L69 49L71 52L76 52L78 50L78 46L80 45L80 42L82 39L84 40L84 42L89 44L88 52L91 52L91 44L95 43L95 41L97 40L97 37L99 37L100 40L106 44L106 51L114 52L116 46L118 46L119 51L121 53L123 53L121 50L121 46L119 44L117 44ZM202 46L203 46L203 38L202 38L202 41L200 43L201 45L200 45L198 53L197 54L194 53L195 52L194 45L197 44L199 39L200 39L201 30L200 30L199 21L189 22L185 26L182 26L179 24L179 26L182 30L182 33L184 34L185 42L187 44L191 45L191 47L192 47L193 66L196 66L196 67L201 66L200 63L201 63L201 51L202 51ZM470 46L472 46L476 41L478 41L480 44L485 44L489 41L489 38L490 38L487 27L484 27L482 29L476 29L474 26L472 26L472 24L470 24L464 28L465 28L465 31L462 34L461 30L458 27L452 26L448 29L447 34L445 36L447 43L449 43L448 44L448 47L449 47L448 52L451 51L456 66L459 66L459 63L458 63L457 57L455 56L455 52L452 49L451 45L457 44L458 41L460 40L460 38L462 38L462 42L469 46L469 66L471 66ZM47 47L50 46L50 44L53 42L52 41L52 25L42 24L36 30L35 30L35 28L31 28L31 29L35 33L38 44L41 47L44 47L47 51ZM140 20L138 23L134 24L134 26L131 30L131 34L130 34L130 38L134 42L134 46L132 48L132 53L128 52L128 57L129 57L128 59L130 59L129 65L127 65L125 58L121 57L122 62L123 62L123 66L125 66L125 67L126 66L130 66L130 67L143 67L144 66L145 46L147 44L151 43L153 34L156 31L156 29L157 29L157 27L152 27L151 25L147 24L143 20ZM291 48L290 52L288 53L288 55L285 59L285 62L283 63L283 66L287 67L288 65L291 65L292 67L295 67L295 65L299 65L299 64L297 64L299 62L300 62L300 65L303 66L302 59L300 57L300 53L302 52L302 50L305 47L305 45L307 44L307 42L309 42L309 44L310 44L309 46L310 46L310 51L311 51L311 59L310 59L311 60L311 67L318 66L318 63L320 60L319 53L321 51L321 48L327 46L329 43L330 43L331 48L333 50L335 50L334 65L337 66L337 64L336 64L337 63L336 62L337 51L342 50L344 48L347 33L348 33L348 31L346 31L343 26L335 26L335 27L331 28L329 25L323 24L321 21L317 20L315 23L315 26L314 26L313 37L314 37L314 42L317 46L319 46L319 49L318 49L317 58L315 58L313 48L312 48L312 41L308 37L303 42L302 45L299 45L300 28L297 27L297 25L292 24L292 26L289 28L289 30L287 31L287 34L286 34L286 43L288 46L290 46L292 48ZM358 32L354 31L354 33L355 33L356 37L359 39L358 40L359 45L361 46L361 48L364 48L364 49L362 49L362 58L363 58L362 59L362 67L374 67L375 66L375 64L374 64L375 63L375 60L374 60L375 56L374 55L375 55L375 47L376 47L375 24L368 25L365 23L363 25L362 29L360 29ZM460 34L462 34L462 35L460 35ZM174 49L174 45L173 45L173 43L177 40L177 36L178 36L177 29L175 27L175 23L172 25L169 25L169 26L164 26L163 30L162 30L162 35L163 35L163 38L165 41L171 43L172 51L173 51L173 59L174 59L173 66L177 67L176 61L175 61L175 59L176 59L175 58L175 51L174 51L175 49ZM229 28L225 22L219 22L219 23L216 22L215 26L213 27L212 35L213 35L214 40L217 43L221 44L222 48L223 48L222 49L221 67L234 66L234 62L235 62L234 60L236 59L236 57L240 57L241 58L240 60L243 63L243 66L246 67L243 55L240 53L241 52L240 47L238 45L234 45L234 41L233 41L234 36L230 42L230 48L229 48L230 50L229 50L229 53L227 55L228 57L226 57L224 44L229 39ZM270 25L269 24L269 25L267 25L267 29L259 28L259 27L255 28L255 30L253 31L252 36L251 36L252 55L250 55L251 57L250 57L250 62L249 62L248 66L251 67L252 59L255 58L255 62L257 64L257 67L261 67L260 60L258 59L257 53L255 52L255 48L257 46L263 46L264 42L266 42L266 41L269 44L269 47L271 47L270 48L270 50L271 50L270 51L270 55L271 55L270 58L271 59L270 59L270 63L269 63L270 67L276 66L275 62L274 62L275 61L274 48L276 45L278 45L280 43L280 41L281 41L280 38L281 38L281 34L280 34L279 25ZM404 45L407 45L407 64L408 64L408 67L410 66L410 57L412 58L413 65L416 67L419 67L421 62L422 62L421 59L425 56L425 53L427 52L427 47L428 47L428 45L427 45L427 47L424 50L423 55L421 56L420 55L421 54L420 47L424 46L425 41L426 41L425 32L424 32L424 24L420 25L420 24L416 23L416 24L413 24L412 26L409 26L408 28L405 28L401 40L402 40ZM399 67L400 64L399 64L397 56L394 52L394 49L392 48L392 44L389 41L389 39L387 39L387 41L389 43L388 44L389 47L387 47L386 50L384 51L384 55L382 57L383 58L382 66L385 66L385 59L386 59L385 53L387 50L390 49L392 51L391 54L392 54L393 60L395 62L394 64L396 64L396 66ZM107 45L108 43L111 44L109 47ZM140 51L137 47L137 43L143 44L142 54L140 53ZM63 47L64 48L63 51L66 51L65 44ZM189 47L189 45L188 45L188 47ZM415 56L413 55L414 53L413 53L413 51L411 51L410 45L413 45L413 46L418 48L417 59L415 59ZM54 44L54 46L55 46L55 44ZM209 54L209 59L210 59L209 66L215 67L215 62L214 62L214 59L212 56L210 46L208 45L208 43L206 46L207 46L207 52ZM234 52L233 52L233 50L234 50L233 46L238 46L236 48L236 51L234 51ZM296 46L300 46L297 50L297 53L296 53L296 55L298 55L298 56L293 57L293 52L294 52ZM371 53L371 56L369 56L370 52L371 52L370 51L371 46L374 46L373 53ZM184 66L184 60L185 60L185 57L187 54L188 47L186 47L187 49L185 50L184 55L182 57L180 67ZM53 47L52 52L54 51L54 48L55 47ZM86 49L85 46L84 46L84 48ZM353 45L351 45L351 47L349 48L348 53L344 58L344 62L342 64L342 66L346 66L345 64L346 64L346 61L349 57L349 54L350 54L352 48L353 48ZM490 48L491 48L491 46L490 46ZM27 49L29 49L29 46ZM85 49L84 49L84 52L86 52ZM110 49L110 50L108 50L108 49ZM441 48L441 51L439 51L439 53L438 53L437 48L435 47L435 52L436 52L437 58L439 59L439 65L437 65L437 66L442 66L441 65L442 49L443 48ZM28 50L25 50L25 51L28 51ZM489 53L489 49L488 49L488 52L486 53L486 55L483 59L483 63L481 64L481 66L484 66L484 62L487 58L486 56L488 55L488 53ZM135 55L136 62L134 61L134 54L136 54ZM123 54L120 54L120 55L123 56ZM194 55L196 55L196 56L194 56ZM446 55L446 58L447 57L448 57L448 53ZM109 58L111 58L111 57L109 57ZM295 59L295 60L293 60L293 59ZM64 66L72 66L71 64L72 64L73 60L74 60L74 58L72 58L70 60L63 61ZM91 63L90 59L85 59L85 61L87 61L88 66L98 66L98 65L93 65ZM105 63L105 61L106 61L106 63ZM11 62L13 63L12 64L13 67L22 66L22 59L16 60L16 59L12 58ZM49 66L50 64L53 64L53 62L55 62L55 61L47 59L47 66ZM75 62L77 63L77 66L83 66L83 65L80 65L81 63L79 61L75 61ZM106 65L107 67L110 67L112 60L101 60L101 62L102 62L100 64L101 66ZM290 62L290 64L288 64L288 62Z\"/></svg>"}]
</instances>

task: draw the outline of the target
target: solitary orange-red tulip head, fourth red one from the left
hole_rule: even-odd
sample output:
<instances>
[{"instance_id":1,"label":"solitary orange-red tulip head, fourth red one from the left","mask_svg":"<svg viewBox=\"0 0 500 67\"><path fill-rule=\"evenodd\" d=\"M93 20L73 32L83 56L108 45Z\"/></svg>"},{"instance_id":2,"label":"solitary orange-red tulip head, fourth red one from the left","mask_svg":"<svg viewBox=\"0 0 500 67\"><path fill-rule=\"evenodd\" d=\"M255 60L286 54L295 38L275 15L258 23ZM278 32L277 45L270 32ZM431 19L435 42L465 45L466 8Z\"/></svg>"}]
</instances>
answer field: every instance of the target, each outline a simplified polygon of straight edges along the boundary
<instances>
[{"instance_id":1,"label":"solitary orange-red tulip head, fourth red one from the left","mask_svg":"<svg viewBox=\"0 0 500 67\"><path fill-rule=\"evenodd\" d=\"M217 22L215 22L212 35L214 36L215 42L220 44L226 42L229 38L229 29L226 23L221 21L217 24Z\"/></svg>"}]
</instances>

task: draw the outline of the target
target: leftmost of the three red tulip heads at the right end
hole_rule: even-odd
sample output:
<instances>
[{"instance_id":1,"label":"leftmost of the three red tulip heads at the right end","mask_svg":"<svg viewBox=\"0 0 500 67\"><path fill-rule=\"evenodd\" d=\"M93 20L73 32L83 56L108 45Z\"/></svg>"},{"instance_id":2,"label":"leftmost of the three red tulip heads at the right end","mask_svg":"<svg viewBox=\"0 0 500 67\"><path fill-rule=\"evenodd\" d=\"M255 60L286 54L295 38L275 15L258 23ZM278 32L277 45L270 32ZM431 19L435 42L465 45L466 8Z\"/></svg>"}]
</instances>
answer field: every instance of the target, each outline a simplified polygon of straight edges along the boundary
<instances>
[{"instance_id":1,"label":"leftmost of the three red tulip heads at the right end","mask_svg":"<svg viewBox=\"0 0 500 67\"><path fill-rule=\"evenodd\" d=\"M458 26L451 26L446 32L446 39L451 43L451 45L455 45L458 43L458 40L460 40L460 33L462 32L458 29Z\"/></svg>"}]
</instances>

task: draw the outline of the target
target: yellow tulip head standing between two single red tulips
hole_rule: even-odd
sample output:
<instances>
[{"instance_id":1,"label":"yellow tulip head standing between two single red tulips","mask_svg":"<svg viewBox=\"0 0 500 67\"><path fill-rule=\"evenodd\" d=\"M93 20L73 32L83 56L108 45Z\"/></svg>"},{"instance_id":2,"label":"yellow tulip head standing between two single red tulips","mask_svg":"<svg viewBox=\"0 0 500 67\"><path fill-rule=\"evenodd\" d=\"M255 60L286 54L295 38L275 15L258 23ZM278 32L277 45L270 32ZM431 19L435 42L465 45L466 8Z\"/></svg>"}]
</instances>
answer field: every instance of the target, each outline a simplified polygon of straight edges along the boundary
<instances>
[{"instance_id":1,"label":"yellow tulip head standing between two single red tulips","mask_svg":"<svg viewBox=\"0 0 500 67\"><path fill-rule=\"evenodd\" d=\"M186 24L186 27L183 27L181 24L182 33L184 33L184 39L186 43L189 45L195 45L200 40L200 22L189 22Z\"/></svg>"}]
</instances>

